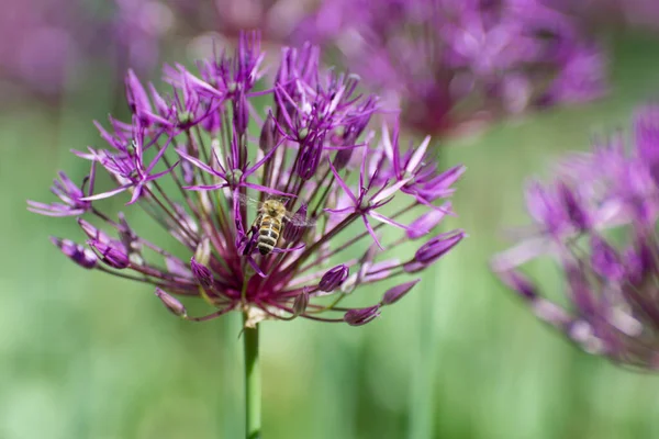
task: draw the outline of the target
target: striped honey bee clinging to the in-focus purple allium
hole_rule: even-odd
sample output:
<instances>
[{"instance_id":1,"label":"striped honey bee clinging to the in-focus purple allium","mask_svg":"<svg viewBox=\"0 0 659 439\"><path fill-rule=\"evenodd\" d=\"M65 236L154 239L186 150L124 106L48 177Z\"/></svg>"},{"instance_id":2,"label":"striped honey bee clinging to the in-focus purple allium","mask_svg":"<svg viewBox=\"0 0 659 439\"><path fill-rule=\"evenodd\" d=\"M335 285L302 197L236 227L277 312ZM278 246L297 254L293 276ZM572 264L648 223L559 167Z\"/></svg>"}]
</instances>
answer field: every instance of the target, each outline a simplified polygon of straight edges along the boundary
<instances>
[{"instance_id":1,"label":"striped honey bee clinging to the in-focus purple allium","mask_svg":"<svg viewBox=\"0 0 659 439\"><path fill-rule=\"evenodd\" d=\"M253 228L258 229L256 248L264 256L269 255L277 247L279 237L287 224L298 227L313 227L315 224L313 221L306 219L303 215L288 212L284 200L271 196L260 203L246 195L241 194L238 196L242 204L258 206L258 215Z\"/></svg>"}]
</instances>

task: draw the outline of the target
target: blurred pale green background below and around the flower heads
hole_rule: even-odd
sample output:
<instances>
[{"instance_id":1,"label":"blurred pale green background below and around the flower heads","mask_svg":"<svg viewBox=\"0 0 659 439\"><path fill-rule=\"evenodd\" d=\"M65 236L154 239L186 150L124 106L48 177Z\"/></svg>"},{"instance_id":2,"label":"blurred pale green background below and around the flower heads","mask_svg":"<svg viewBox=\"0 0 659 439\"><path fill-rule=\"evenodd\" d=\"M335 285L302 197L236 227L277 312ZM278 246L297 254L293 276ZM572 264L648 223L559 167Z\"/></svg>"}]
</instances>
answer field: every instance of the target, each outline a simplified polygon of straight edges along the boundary
<instances>
[{"instance_id":1,"label":"blurred pale green background below and around the flower heads","mask_svg":"<svg viewBox=\"0 0 659 439\"><path fill-rule=\"evenodd\" d=\"M577 350L487 266L500 232L525 222L525 178L659 91L658 40L610 44L605 99L444 142L447 166L468 167L451 225L470 238L400 304L360 328L263 325L266 438L659 437L659 376ZM58 169L85 173L68 150L99 144L91 121L125 111L112 68L87 68L55 101L0 97L0 438L238 438L239 316L179 320L152 289L64 258L47 238L80 237L74 221L25 211L51 200Z\"/></svg>"}]
</instances>

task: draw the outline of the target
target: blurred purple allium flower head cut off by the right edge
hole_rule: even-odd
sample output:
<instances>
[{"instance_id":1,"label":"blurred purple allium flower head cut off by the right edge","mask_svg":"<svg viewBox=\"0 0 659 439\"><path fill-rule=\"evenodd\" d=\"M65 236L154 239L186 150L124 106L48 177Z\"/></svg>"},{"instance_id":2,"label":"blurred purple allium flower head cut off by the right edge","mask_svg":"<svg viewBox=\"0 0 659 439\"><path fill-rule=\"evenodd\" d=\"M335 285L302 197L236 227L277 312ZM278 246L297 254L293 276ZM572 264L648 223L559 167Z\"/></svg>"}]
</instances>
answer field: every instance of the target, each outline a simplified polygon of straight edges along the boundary
<instances>
[{"instance_id":1,"label":"blurred purple allium flower head cut off by the right edge","mask_svg":"<svg viewBox=\"0 0 659 439\"><path fill-rule=\"evenodd\" d=\"M492 266L539 318L587 351L659 369L659 106L640 109L634 128L633 142L619 134L599 142L568 156L554 182L532 183L532 235ZM568 307L521 270L546 256L562 269Z\"/></svg>"}]
</instances>

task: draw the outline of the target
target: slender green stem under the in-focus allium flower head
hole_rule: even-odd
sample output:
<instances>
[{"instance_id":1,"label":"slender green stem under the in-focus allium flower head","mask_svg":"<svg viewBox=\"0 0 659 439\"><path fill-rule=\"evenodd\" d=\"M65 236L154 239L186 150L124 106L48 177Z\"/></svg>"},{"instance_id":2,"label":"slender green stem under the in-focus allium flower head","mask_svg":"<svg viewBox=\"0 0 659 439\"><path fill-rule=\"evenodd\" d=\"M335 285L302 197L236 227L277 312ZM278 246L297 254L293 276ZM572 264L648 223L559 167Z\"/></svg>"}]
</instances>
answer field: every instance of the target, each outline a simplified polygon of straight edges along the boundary
<instances>
[{"instance_id":1,"label":"slender green stem under the in-focus allium flower head","mask_svg":"<svg viewBox=\"0 0 659 439\"><path fill-rule=\"evenodd\" d=\"M247 320L247 313L243 315ZM260 365L258 361L258 325L245 327L243 333L245 346L245 438L260 438Z\"/></svg>"}]
</instances>

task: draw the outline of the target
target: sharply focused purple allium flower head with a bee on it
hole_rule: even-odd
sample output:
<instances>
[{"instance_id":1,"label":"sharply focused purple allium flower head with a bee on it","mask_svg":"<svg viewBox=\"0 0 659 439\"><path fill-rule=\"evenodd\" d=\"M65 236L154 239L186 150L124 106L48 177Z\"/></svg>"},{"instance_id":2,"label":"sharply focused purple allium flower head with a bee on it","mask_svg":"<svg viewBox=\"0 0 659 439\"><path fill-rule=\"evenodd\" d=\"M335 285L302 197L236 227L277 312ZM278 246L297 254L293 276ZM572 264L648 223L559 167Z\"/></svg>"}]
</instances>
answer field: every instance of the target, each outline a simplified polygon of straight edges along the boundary
<instances>
[{"instance_id":1,"label":"sharply focused purple allium flower head with a bee on it","mask_svg":"<svg viewBox=\"0 0 659 439\"><path fill-rule=\"evenodd\" d=\"M283 48L266 79L259 43L244 34L234 55L199 61L198 74L166 66L169 93L129 71L131 121L97 123L105 145L74 151L90 176L77 185L62 173L54 192L64 204L30 209L77 216L89 248L54 238L67 257L153 284L183 318L235 309L247 325L298 316L362 325L417 280L371 307L343 306L358 286L420 271L462 238L422 241L450 211L433 203L453 194L463 168L426 161L429 138L403 151L398 128L369 128L378 99L358 93L355 77L321 70L312 45ZM102 169L113 188L94 187ZM169 243L104 212L108 198L145 211ZM404 255L410 241L418 251ZM202 297L213 312L190 317L174 295Z\"/></svg>"}]
</instances>

